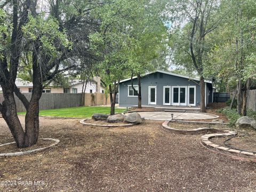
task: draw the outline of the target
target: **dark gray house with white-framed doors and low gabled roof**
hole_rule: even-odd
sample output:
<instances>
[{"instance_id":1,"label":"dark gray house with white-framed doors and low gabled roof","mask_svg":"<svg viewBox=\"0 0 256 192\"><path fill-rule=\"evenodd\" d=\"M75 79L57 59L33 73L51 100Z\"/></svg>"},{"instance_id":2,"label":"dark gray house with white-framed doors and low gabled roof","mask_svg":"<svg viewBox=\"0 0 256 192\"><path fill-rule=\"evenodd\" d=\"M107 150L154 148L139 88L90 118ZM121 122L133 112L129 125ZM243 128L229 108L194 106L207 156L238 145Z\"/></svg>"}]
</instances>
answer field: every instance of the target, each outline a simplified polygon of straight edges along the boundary
<instances>
[{"instance_id":1,"label":"dark gray house with white-framed doors and low gabled roof","mask_svg":"<svg viewBox=\"0 0 256 192\"><path fill-rule=\"evenodd\" d=\"M205 81L205 105L213 101L211 81ZM138 90L137 77L133 86ZM131 87L131 78L119 84L119 106L138 106L138 96ZM200 86L198 78L189 78L162 70L141 77L141 101L145 106L199 106Z\"/></svg>"}]
</instances>

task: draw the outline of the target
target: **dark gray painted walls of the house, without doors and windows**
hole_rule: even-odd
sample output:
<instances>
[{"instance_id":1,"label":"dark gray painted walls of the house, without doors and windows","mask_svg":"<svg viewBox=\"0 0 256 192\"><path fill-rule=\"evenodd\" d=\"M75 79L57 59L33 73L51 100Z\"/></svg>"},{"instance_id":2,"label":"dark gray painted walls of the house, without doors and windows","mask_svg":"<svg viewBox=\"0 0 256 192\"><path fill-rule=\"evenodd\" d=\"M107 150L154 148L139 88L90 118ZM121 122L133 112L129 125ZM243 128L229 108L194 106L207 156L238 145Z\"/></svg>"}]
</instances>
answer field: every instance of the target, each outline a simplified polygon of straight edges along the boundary
<instances>
[{"instance_id":1,"label":"dark gray painted walls of the house, without doors and windows","mask_svg":"<svg viewBox=\"0 0 256 192\"><path fill-rule=\"evenodd\" d=\"M155 75L156 74L156 75ZM160 76L160 74L162 74ZM133 79L133 85L137 85L137 78ZM138 97L128 96L128 85L131 80L119 84L119 106L130 107L138 105ZM161 72L155 72L141 77L141 101L142 105L148 105L148 86L156 86L156 105L163 105L163 86L196 86L196 106L200 105L200 86L199 81L194 81L184 77L178 77ZM212 84L206 84L206 104L212 101ZM207 93L210 94L208 95ZM172 89L171 89L172 92ZM153 105L154 106L154 105Z\"/></svg>"}]
</instances>

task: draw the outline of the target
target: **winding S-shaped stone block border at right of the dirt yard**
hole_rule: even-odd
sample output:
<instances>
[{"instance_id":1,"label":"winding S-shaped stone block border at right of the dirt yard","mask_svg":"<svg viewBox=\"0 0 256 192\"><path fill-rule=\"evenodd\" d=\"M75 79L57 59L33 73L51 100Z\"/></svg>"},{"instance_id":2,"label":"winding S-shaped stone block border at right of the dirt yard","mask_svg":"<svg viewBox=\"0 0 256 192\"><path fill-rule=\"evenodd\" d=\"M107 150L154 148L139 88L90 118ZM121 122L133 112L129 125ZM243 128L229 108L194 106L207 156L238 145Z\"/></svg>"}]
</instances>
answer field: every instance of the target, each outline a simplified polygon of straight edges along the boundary
<instances>
[{"instance_id":1,"label":"winding S-shaped stone block border at right of the dirt yard","mask_svg":"<svg viewBox=\"0 0 256 192\"><path fill-rule=\"evenodd\" d=\"M231 131L231 130L219 130L219 129L212 129L208 127L202 127L202 128L196 128L196 129L190 129L190 130L179 130L179 129L174 129L170 126L168 126L169 121L165 121L162 124L163 129L171 131L173 133L181 133L181 134L198 134L198 133L207 133L202 135L200 138L201 144L213 151L217 151L221 154L230 154L230 155L243 155L246 157L256 157L256 153L252 153L249 151L244 151L244 150L237 150L237 149L231 149L228 147L223 147L219 146L210 139L212 138L217 138L217 137L229 137L229 136L235 136L237 135L236 131ZM210 133L210 134L208 134ZM253 159L255 160L255 159Z\"/></svg>"}]
</instances>

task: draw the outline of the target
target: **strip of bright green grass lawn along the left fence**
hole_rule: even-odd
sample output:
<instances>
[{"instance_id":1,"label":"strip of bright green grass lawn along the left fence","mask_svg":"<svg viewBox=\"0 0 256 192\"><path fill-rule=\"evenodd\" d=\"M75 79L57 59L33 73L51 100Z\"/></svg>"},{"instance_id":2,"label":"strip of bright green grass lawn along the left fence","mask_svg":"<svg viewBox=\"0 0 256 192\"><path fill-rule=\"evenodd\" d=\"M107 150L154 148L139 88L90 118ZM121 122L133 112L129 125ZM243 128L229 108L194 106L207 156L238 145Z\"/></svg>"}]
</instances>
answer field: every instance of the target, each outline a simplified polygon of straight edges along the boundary
<instances>
[{"instance_id":1,"label":"strip of bright green grass lawn along the left fence","mask_svg":"<svg viewBox=\"0 0 256 192\"><path fill-rule=\"evenodd\" d=\"M115 109L115 113L121 113L125 109ZM47 109L40 110L41 116L59 116L59 117L91 117L94 113L110 114L110 107L98 106L83 106L83 107L70 107L60 109ZM18 115L25 115L26 112L18 113Z\"/></svg>"}]
</instances>

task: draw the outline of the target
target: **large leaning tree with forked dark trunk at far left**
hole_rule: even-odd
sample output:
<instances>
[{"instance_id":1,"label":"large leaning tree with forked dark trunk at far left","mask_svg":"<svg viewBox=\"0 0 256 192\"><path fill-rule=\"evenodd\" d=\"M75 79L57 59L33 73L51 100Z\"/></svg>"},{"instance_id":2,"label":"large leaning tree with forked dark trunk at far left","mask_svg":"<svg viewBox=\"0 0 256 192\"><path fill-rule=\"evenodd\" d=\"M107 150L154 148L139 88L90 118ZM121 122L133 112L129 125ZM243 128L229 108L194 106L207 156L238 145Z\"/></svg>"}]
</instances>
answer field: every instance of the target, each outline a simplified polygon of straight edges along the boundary
<instances>
[{"instance_id":1,"label":"large leaning tree with forked dark trunk at far left","mask_svg":"<svg viewBox=\"0 0 256 192\"><path fill-rule=\"evenodd\" d=\"M76 69L77 58L93 58L88 51L88 35L98 22L90 18L89 12L98 4L79 0L50 2L6 0L0 4L0 85L4 98L0 112L20 148L38 140L39 99L44 85L55 75ZM22 65L32 68L30 100L15 85L21 60ZM24 129L14 95L26 108Z\"/></svg>"}]
</instances>

